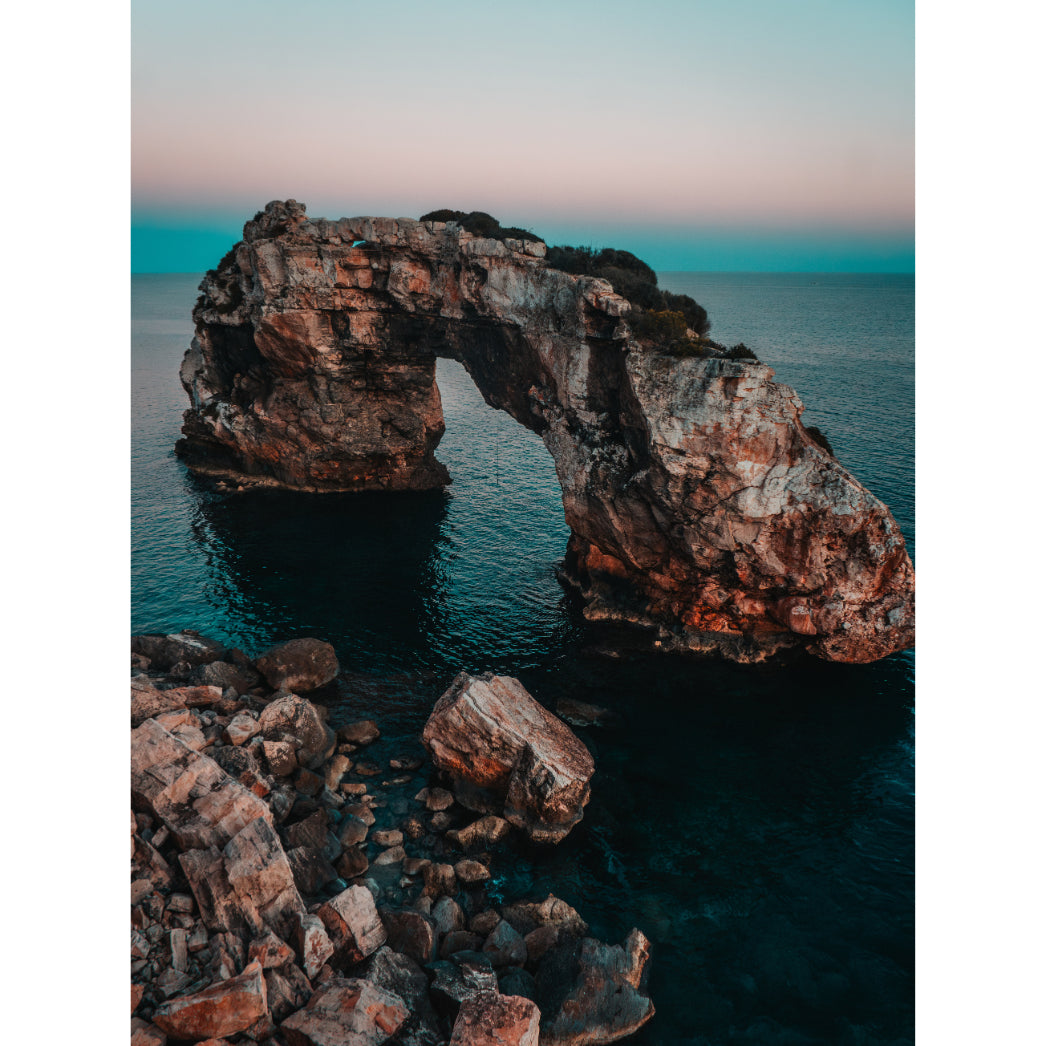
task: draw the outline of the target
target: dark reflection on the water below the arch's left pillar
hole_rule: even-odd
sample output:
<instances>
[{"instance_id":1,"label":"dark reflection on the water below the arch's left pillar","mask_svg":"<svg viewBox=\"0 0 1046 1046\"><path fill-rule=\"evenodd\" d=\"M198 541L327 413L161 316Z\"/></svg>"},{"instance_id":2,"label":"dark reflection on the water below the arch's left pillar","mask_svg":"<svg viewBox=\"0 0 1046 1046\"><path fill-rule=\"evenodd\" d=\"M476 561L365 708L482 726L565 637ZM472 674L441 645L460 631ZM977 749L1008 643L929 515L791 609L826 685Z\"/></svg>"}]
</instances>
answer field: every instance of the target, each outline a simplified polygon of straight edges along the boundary
<instances>
[{"instance_id":1,"label":"dark reflection on the water below the arch's left pillar","mask_svg":"<svg viewBox=\"0 0 1046 1046\"><path fill-rule=\"evenodd\" d=\"M376 651L426 659L428 637L445 628L446 494L226 496L186 482L208 602L253 647L319 635L348 670Z\"/></svg>"}]
</instances>

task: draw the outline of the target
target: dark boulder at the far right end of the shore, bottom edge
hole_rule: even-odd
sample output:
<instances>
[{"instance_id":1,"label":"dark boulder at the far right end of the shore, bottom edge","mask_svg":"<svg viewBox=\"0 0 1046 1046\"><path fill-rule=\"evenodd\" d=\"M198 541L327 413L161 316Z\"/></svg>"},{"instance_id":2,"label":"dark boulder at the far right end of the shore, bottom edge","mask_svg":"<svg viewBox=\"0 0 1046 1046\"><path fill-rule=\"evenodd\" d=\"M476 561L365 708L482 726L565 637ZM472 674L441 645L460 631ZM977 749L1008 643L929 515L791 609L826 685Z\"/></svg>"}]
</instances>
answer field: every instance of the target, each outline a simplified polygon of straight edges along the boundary
<instances>
[{"instance_id":1,"label":"dark boulder at the far right end of the shore, bottom edge","mask_svg":"<svg viewBox=\"0 0 1046 1046\"><path fill-rule=\"evenodd\" d=\"M642 988L649 957L639 930L623 946L586 937L549 952L536 978L543 1046L598 1046L645 1024L654 1016Z\"/></svg>"}]
</instances>

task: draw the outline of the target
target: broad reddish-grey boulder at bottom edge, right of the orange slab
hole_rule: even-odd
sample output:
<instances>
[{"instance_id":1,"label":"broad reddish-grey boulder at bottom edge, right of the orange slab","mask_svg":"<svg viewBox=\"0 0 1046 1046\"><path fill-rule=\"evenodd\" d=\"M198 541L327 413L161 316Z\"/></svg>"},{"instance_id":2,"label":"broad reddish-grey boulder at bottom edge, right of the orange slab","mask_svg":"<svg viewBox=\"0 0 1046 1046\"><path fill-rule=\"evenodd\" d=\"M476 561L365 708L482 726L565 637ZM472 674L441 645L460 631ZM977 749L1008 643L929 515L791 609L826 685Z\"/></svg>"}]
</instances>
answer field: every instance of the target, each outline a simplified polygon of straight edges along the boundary
<instances>
[{"instance_id":1,"label":"broad reddish-grey boulder at bottom edge, right of the orange slab","mask_svg":"<svg viewBox=\"0 0 1046 1046\"><path fill-rule=\"evenodd\" d=\"M290 1046L381 1046L408 1017L403 1000L356 977L332 977L279 1029Z\"/></svg>"}]
</instances>

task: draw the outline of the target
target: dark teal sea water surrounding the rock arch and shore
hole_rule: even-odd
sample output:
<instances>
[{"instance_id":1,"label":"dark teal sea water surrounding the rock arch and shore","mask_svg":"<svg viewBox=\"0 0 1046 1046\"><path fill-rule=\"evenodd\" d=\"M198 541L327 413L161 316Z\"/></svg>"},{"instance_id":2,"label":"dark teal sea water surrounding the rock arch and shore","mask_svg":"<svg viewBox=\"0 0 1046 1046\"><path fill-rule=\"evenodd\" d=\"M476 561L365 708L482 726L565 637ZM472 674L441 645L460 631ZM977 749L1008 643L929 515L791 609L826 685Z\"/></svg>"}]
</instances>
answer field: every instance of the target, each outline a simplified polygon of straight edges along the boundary
<instances>
[{"instance_id":1,"label":"dark teal sea water surrounding the rock arch and shore","mask_svg":"<svg viewBox=\"0 0 1046 1046\"><path fill-rule=\"evenodd\" d=\"M591 654L554 577L568 531L540 439L439 361L454 483L431 495L218 495L173 446L197 275L135 276L132 628L196 628L259 652L332 641L336 721L410 744L461 668L546 705L610 707L585 820L496 864L506 897L549 889L593 932L655 942L657 1016L633 1042L910 1042L911 653L873 665L751 667ZM663 273L712 335L793 385L805 419L913 545L910 276ZM420 782L418 782L420 783Z\"/></svg>"}]
</instances>

